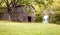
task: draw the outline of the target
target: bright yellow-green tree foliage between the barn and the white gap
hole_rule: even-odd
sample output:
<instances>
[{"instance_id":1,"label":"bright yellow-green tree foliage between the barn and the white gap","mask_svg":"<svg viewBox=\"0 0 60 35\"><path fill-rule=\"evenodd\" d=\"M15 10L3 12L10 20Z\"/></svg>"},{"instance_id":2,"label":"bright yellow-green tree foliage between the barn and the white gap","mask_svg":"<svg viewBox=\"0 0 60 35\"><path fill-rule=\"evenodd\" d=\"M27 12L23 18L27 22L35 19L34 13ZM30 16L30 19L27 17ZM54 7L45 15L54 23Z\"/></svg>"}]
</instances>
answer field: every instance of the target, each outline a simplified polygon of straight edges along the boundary
<instances>
[{"instance_id":1,"label":"bright yellow-green tree foliage between the barn and the white gap","mask_svg":"<svg viewBox=\"0 0 60 35\"><path fill-rule=\"evenodd\" d=\"M50 10L50 6L53 3L53 0L35 0L35 18L36 22L42 22L43 21L43 11L44 9Z\"/></svg>"}]
</instances>

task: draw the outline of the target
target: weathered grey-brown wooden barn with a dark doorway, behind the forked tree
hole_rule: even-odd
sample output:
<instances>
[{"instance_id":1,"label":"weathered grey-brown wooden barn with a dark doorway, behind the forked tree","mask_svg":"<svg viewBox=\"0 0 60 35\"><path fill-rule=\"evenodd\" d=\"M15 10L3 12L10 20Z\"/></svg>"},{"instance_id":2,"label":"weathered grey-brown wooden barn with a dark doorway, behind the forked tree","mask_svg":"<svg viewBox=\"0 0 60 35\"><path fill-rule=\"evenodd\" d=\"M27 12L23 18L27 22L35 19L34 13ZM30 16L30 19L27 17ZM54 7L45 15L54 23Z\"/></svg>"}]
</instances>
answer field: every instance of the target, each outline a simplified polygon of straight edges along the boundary
<instances>
[{"instance_id":1,"label":"weathered grey-brown wooden barn with a dark doorway, behind the forked tree","mask_svg":"<svg viewBox=\"0 0 60 35\"><path fill-rule=\"evenodd\" d=\"M6 9L2 9L3 11L7 11ZM20 6L16 6L15 8L13 8L12 11L12 15L11 15L11 21L17 21L17 22L34 22L35 21L35 15L34 15L34 11L33 8L31 8L31 14L28 15L28 13L26 12L26 10L24 9L24 5L20 5ZM8 20L9 19L9 15L7 12L4 13L0 13L0 19L1 20Z\"/></svg>"}]
</instances>

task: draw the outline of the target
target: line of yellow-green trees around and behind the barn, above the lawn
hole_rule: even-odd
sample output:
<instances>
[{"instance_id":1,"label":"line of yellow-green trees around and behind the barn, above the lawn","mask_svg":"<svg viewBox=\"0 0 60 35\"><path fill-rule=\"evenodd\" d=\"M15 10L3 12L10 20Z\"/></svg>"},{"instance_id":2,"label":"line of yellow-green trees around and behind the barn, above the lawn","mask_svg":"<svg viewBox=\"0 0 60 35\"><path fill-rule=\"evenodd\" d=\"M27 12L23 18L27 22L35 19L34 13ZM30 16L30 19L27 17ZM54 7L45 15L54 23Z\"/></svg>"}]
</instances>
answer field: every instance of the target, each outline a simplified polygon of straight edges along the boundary
<instances>
[{"instance_id":1,"label":"line of yellow-green trees around and behind the barn, above the lawn","mask_svg":"<svg viewBox=\"0 0 60 35\"><path fill-rule=\"evenodd\" d=\"M35 10L35 20L36 22L42 22L44 10L47 10L51 15L49 18L51 22L58 22L60 21L60 0L0 0L0 7L6 7L8 14L11 16L12 9L16 5L26 5L29 9L30 6L34 7ZM54 11L54 14L51 13L51 10ZM30 9L27 10L30 13ZM9 16L9 19L10 19Z\"/></svg>"}]
</instances>

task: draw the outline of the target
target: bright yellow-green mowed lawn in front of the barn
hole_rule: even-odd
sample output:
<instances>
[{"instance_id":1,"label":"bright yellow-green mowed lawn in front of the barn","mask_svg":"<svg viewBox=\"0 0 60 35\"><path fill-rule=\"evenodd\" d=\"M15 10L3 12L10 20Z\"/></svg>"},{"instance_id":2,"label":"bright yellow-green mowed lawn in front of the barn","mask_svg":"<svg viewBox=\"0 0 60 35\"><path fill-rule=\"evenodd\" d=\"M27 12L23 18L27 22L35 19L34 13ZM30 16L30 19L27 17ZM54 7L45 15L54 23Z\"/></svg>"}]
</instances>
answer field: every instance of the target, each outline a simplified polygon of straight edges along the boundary
<instances>
[{"instance_id":1,"label":"bright yellow-green mowed lawn in front of the barn","mask_svg":"<svg viewBox=\"0 0 60 35\"><path fill-rule=\"evenodd\" d=\"M60 25L0 21L0 35L60 35Z\"/></svg>"}]
</instances>

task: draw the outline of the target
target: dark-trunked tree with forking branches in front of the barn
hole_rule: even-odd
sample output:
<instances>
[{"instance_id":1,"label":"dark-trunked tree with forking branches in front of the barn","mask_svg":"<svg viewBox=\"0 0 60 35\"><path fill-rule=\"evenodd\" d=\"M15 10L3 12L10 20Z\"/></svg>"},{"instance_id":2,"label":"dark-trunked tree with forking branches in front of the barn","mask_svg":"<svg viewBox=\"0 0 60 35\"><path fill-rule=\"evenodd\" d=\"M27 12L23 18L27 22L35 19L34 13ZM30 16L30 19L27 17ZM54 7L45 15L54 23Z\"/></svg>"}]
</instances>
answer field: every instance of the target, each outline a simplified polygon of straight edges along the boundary
<instances>
[{"instance_id":1,"label":"dark-trunked tree with forking branches in front of the barn","mask_svg":"<svg viewBox=\"0 0 60 35\"><path fill-rule=\"evenodd\" d=\"M17 0L0 0L0 5L2 5L3 3L6 5L9 20L11 20L12 9L17 4Z\"/></svg>"}]
</instances>

